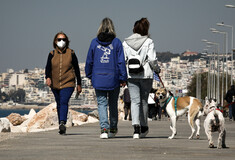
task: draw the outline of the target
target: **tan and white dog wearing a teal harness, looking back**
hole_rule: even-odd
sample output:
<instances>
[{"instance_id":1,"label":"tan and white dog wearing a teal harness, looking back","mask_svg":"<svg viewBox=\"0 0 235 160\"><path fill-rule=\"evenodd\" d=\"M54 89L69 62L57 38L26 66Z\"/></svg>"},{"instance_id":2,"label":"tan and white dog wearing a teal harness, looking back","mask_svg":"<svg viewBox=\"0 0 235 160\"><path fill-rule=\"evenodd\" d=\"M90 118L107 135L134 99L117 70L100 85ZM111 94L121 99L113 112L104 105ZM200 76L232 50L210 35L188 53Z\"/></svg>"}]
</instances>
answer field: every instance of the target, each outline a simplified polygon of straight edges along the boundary
<instances>
[{"instance_id":1,"label":"tan and white dog wearing a teal harness, looking back","mask_svg":"<svg viewBox=\"0 0 235 160\"><path fill-rule=\"evenodd\" d=\"M172 135L169 139L174 138L176 135L176 121L179 116L184 115L188 111L188 122L192 130L192 134L189 139L192 139L195 134L195 127L197 126L197 139L200 134L200 116L202 116L203 106L201 102L194 97L173 97L172 94L165 88L160 88L155 91L155 95L160 102L162 108L166 108L166 111L171 119L170 129Z\"/></svg>"}]
</instances>

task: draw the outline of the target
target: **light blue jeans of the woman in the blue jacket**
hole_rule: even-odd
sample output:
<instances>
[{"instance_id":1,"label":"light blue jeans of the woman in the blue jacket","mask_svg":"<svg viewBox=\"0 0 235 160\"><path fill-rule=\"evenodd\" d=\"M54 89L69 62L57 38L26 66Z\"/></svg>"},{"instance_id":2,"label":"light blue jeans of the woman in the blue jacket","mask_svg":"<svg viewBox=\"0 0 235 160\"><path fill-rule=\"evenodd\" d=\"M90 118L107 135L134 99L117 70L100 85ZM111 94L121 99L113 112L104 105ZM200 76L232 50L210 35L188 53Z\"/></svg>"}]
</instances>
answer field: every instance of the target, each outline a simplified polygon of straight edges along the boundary
<instances>
[{"instance_id":1,"label":"light blue jeans of the woman in the blue jacket","mask_svg":"<svg viewBox=\"0 0 235 160\"><path fill-rule=\"evenodd\" d=\"M115 88L114 90L95 90L97 103L98 103L98 112L100 120L101 129L116 129L118 124L118 96L119 96L120 87ZM108 121L108 108L109 105L109 120Z\"/></svg>"}]
</instances>

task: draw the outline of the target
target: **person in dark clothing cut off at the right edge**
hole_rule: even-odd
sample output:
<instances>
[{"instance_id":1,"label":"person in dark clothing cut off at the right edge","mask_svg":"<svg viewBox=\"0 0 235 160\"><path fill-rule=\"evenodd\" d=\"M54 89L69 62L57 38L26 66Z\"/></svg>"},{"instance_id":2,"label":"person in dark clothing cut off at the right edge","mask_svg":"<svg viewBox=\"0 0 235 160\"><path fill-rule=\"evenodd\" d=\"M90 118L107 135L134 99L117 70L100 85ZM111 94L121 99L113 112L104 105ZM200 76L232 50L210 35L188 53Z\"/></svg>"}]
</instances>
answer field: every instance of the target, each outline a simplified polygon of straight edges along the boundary
<instances>
[{"instance_id":1,"label":"person in dark clothing cut off at the right edge","mask_svg":"<svg viewBox=\"0 0 235 160\"><path fill-rule=\"evenodd\" d=\"M229 119L235 121L235 87L231 86L226 93L225 100L229 103Z\"/></svg>"}]
</instances>

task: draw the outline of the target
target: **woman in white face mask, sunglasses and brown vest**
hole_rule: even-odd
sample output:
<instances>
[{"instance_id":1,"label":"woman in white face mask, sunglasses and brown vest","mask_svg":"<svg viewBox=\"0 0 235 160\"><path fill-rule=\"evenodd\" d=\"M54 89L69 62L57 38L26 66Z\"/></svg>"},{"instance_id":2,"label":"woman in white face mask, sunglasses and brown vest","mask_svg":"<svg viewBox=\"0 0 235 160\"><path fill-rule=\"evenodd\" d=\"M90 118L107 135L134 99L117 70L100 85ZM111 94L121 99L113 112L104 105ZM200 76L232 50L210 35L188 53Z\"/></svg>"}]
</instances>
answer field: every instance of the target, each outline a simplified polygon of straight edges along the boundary
<instances>
[{"instance_id":1,"label":"woman in white face mask, sunglasses and brown vest","mask_svg":"<svg viewBox=\"0 0 235 160\"><path fill-rule=\"evenodd\" d=\"M47 59L46 84L51 87L55 96L59 134L65 134L68 102L75 87L78 94L81 93L81 76L76 54L69 48L69 39L65 33L59 32L55 35L53 47L54 50Z\"/></svg>"}]
</instances>

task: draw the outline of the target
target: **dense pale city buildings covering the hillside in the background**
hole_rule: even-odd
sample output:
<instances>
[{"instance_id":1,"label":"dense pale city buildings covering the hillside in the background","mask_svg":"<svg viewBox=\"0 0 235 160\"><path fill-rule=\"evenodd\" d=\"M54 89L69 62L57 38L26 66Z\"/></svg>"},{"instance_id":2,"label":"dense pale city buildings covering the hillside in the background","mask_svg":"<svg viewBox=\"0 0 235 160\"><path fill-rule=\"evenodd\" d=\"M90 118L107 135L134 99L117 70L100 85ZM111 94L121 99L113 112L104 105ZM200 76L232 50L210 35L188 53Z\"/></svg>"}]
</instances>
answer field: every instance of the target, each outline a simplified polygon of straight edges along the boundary
<instances>
[{"instance_id":1,"label":"dense pale city buildings covering the hillside in the background","mask_svg":"<svg viewBox=\"0 0 235 160\"><path fill-rule=\"evenodd\" d=\"M196 52L186 51L185 56L198 55ZM164 86L171 90L175 96L183 96L187 93L187 86L191 83L192 77L195 73L208 72L208 57L212 54L204 55L205 59L201 57L193 62L189 60L181 60L180 57L172 58L169 62L161 63L160 78ZM231 75L234 62L231 60L227 62L228 73ZM217 61L211 61L212 68L216 68ZM225 64L226 66L226 64ZM76 90L70 99L70 105L96 105L95 90L92 87L91 80L86 78L85 63L80 63L80 73L82 78L82 93L78 99L75 98ZM219 65L220 73L222 72L222 63ZM235 78L235 69L233 69L233 79ZM159 88L162 84L154 80L153 87ZM11 90L22 88L25 90L26 103L33 104L49 104L55 102L55 98L51 89L46 86L45 69L35 68L33 70L21 70L14 72L13 69L8 69L6 73L0 73L0 87L1 92L9 93Z\"/></svg>"}]
</instances>

